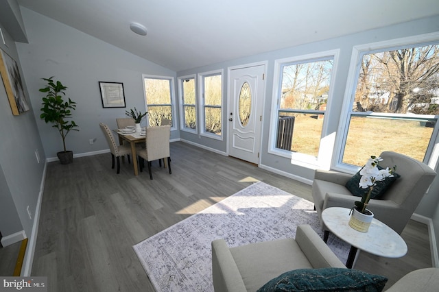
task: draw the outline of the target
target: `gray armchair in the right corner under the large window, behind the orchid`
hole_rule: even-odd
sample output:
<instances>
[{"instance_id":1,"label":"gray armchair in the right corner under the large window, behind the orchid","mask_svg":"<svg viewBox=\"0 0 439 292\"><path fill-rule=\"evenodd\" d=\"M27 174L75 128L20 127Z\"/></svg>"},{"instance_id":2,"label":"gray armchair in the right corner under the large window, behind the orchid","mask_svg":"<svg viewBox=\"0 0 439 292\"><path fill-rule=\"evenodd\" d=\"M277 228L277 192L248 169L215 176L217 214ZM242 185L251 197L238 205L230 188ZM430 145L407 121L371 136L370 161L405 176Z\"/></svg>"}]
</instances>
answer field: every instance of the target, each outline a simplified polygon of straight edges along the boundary
<instances>
[{"instance_id":1,"label":"gray armchair in the right corner under the large window, behind the orchid","mask_svg":"<svg viewBox=\"0 0 439 292\"><path fill-rule=\"evenodd\" d=\"M381 167L394 167L401 175L380 199L370 199L370 209L376 219L387 224L401 234L420 199L436 177L436 171L413 158L391 151L381 153ZM337 171L316 170L312 196L322 229L327 228L322 223L322 211L330 207L352 208L359 197L352 195L344 186L352 174Z\"/></svg>"}]
</instances>

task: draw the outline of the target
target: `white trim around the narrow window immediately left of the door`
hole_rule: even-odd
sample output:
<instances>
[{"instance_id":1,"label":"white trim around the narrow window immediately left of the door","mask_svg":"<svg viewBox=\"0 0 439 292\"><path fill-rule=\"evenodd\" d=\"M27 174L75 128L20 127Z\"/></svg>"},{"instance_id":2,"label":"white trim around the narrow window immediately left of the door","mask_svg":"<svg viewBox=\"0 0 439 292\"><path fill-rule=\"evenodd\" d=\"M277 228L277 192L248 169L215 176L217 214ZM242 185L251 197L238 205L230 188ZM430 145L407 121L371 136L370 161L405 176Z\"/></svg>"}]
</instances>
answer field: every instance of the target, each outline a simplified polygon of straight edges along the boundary
<instances>
[{"instance_id":1,"label":"white trim around the narrow window immediately left of the door","mask_svg":"<svg viewBox=\"0 0 439 292\"><path fill-rule=\"evenodd\" d=\"M221 76L221 135L217 135L217 134L213 134L210 132L206 132L204 130L205 128L205 122L206 119L204 117L204 77L209 77L212 75L220 75ZM214 70L214 71L209 71L209 72L203 72L203 73L199 73L198 74L198 104L200 104L200 106L198 107L198 117L200 117L199 119L199 123L197 124L198 127L200 127L200 130L198 131L200 134L200 136L205 136L205 137L209 137L209 138L213 138L215 140L220 140L223 141L224 139L224 70L220 69L220 70Z\"/></svg>"}]
</instances>

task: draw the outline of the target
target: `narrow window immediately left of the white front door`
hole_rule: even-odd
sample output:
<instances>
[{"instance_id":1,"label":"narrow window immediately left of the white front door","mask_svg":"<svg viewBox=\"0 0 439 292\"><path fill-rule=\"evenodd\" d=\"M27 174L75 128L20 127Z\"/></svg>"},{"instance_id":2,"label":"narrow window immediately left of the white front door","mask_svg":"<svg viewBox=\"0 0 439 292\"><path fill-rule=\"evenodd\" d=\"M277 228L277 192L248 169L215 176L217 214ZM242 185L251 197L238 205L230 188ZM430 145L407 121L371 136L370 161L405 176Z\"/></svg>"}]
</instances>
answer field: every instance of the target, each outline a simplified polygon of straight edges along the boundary
<instances>
[{"instance_id":1,"label":"narrow window immediately left of the white front door","mask_svg":"<svg viewBox=\"0 0 439 292\"><path fill-rule=\"evenodd\" d=\"M222 72L200 75L202 134L222 137Z\"/></svg>"}]
</instances>

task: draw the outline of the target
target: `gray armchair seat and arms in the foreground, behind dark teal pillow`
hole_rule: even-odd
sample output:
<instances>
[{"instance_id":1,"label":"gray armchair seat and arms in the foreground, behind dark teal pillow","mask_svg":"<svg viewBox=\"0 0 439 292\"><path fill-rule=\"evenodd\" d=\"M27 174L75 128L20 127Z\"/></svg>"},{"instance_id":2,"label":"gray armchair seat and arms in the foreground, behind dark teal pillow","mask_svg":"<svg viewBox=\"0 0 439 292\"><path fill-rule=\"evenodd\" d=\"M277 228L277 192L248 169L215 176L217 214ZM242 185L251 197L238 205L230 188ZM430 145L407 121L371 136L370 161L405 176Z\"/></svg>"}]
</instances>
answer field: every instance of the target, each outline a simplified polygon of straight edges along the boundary
<instances>
[{"instance_id":1,"label":"gray armchair seat and arms in the foreground, behind dark teal pillow","mask_svg":"<svg viewBox=\"0 0 439 292\"><path fill-rule=\"evenodd\" d=\"M212 242L215 291L257 291L266 282L293 269L346 268L309 225L298 226L296 239L278 239L228 247Z\"/></svg>"}]
</instances>

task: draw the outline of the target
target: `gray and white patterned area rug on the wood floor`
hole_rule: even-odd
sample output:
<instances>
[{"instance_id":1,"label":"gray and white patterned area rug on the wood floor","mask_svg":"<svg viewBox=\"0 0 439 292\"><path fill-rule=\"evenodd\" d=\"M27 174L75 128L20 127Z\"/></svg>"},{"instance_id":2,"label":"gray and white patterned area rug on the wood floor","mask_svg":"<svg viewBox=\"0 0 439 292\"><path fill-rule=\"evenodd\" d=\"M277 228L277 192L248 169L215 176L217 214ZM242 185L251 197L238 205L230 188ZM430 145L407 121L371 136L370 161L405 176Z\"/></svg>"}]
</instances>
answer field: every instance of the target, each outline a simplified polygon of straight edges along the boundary
<instances>
[{"instance_id":1,"label":"gray and white patterned area rug on the wood floor","mask_svg":"<svg viewBox=\"0 0 439 292\"><path fill-rule=\"evenodd\" d=\"M300 224L322 236L313 203L256 182L133 248L156 291L213 291L213 240L225 239L234 247L294 238ZM349 246L335 236L329 236L328 245L346 263Z\"/></svg>"}]
</instances>

